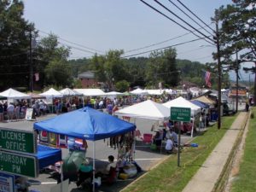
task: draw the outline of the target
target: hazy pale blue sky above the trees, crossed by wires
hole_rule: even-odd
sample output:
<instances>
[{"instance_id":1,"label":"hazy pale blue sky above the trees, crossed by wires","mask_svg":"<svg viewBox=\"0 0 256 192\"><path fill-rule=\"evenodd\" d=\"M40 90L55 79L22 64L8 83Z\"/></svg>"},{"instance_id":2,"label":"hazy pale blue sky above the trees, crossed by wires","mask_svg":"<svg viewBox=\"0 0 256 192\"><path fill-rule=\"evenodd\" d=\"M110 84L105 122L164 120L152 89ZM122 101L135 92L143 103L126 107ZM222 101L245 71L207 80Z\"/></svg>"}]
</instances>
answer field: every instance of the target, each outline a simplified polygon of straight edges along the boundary
<instances>
[{"instance_id":1,"label":"hazy pale blue sky above the trees, crossed by wires","mask_svg":"<svg viewBox=\"0 0 256 192\"><path fill-rule=\"evenodd\" d=\"M144 1L182 26L186 26L183 21L178 20L153 0ZM231 3L231 0L180 1L207 25L212 23L211 17L214 15L214 9ZM172 0L172 2L183 8L177 0ZM199 20L197 21L201 26L197 26L193 20L175 8L169 0L162 0L160 3L163 3L166 8L171 9L196 29L205 26ZM95 53L105 54L109 49L124 49L125 55L123 56L148 56L150 50L198 38L148 8L139 0L24 0L24 4L24 17L35 24L39 30L39 38L46 37L50 32L57 35L61 44L72 47L70 59L90 58ZM193 18L195 19L195 17ZM189 26L186 27L189 28ZM212 23L210 27L215 29L215 24ZM208 32L212 32L211 29L207 27L206 29ZM207 36L210 35L204 30L201 32ZM161 42L165 43L159 44ZM152 44L157 45L149 46ZM212 52L216 50L204 39L178 45L175 48L178 59L200 61L201 63L212 62ZM148 53L136 55L147 51ZM232 79L234 75L230 74L230 76ZM247 76L248 74L242 73L243 79L247 79Z\"/></svg>"}]
</instances>

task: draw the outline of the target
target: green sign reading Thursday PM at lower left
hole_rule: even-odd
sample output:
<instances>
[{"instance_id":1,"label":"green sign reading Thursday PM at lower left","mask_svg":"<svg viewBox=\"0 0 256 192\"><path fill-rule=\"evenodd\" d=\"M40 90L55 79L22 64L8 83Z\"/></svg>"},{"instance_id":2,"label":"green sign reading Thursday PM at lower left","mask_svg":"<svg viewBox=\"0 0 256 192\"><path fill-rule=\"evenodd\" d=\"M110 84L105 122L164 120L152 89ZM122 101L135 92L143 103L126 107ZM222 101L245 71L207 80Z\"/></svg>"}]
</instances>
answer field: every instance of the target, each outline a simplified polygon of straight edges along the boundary
<instances>
[{"instance_id":1,"label":"green sign reading Thursday PM at lower left","mask_svg":"<svg viewBox=\"0 0 256 192\"><path fill-rule=\"evenodd\" d=\"M26 177L38 177L38 160L33 156L0 151L0 171Z\"/></svg>"}]
</instances>

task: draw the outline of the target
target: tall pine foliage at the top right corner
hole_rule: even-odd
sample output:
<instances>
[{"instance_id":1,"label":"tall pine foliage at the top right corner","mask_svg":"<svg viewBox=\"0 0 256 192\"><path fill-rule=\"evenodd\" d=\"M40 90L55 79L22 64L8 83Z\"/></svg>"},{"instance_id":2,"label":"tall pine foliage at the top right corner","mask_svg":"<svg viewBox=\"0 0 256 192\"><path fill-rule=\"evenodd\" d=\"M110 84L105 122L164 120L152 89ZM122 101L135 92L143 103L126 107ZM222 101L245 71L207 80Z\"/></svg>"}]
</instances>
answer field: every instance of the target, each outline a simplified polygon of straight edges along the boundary
<instances>
[{"instance_id":1,"label":"tall pine foliage at the top right corner","mask_svg":"<svg viewBox=\"0 0 256 192\"><path fill-rule=\"evenodd\" d=\"M221 44L222 55L241 51L239 63L251 61L255 67L245 68L256 73L256 4L254 0L234 0L233 4L218 9L222 21ZM254 80L254 97L256 98L256 75ZM255 102L254 102L255 103Z\"/></svg>"}]
</instances>

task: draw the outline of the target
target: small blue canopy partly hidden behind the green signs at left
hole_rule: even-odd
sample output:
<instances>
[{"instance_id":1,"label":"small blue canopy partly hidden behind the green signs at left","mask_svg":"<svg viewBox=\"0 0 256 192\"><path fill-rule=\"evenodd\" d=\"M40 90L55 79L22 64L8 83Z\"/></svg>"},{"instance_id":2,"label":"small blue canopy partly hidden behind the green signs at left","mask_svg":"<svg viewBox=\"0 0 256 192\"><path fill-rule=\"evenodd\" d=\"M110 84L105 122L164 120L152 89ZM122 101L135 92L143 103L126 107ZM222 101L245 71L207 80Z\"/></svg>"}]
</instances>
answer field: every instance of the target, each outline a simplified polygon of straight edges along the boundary
<instances>
[{"instance_id":1,"label":"small blue canopy partly hidden behind the green signs at left","mask_svg":"<svg viewBox=\"0 0 256 192\"><path fill-rule=\"evenodd\" d=\"M54 165L61 159L61 149L50 148L44 145L38 145L38 154L36 154L39 163L39 169L43 169L45 166Z\"/></svg>"}]
</instances>

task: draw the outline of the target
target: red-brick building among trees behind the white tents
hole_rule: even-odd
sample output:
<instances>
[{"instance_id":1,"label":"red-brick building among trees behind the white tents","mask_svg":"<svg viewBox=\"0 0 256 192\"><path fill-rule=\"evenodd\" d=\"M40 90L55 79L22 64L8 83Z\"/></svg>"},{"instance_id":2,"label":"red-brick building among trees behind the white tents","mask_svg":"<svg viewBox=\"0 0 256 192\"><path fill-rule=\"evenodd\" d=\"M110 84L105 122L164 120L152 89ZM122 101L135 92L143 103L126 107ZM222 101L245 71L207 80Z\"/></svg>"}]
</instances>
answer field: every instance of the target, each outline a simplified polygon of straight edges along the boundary
<instances>
[{"instance_id":1,"label":"red-brick building among trees behind the white tents","mask_svg":"<svg viewBox=\"0 0 256 192\"><path fill-rule=\"evenodd\" d=\"M87 71L84 73L80 73L78 79L81 80L82 87L85 88L91 88L91 87L97 87L97 80L95 77L95 73L92 71Z\"/></svg>"}]
</instances>

